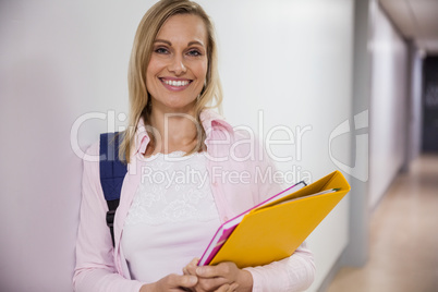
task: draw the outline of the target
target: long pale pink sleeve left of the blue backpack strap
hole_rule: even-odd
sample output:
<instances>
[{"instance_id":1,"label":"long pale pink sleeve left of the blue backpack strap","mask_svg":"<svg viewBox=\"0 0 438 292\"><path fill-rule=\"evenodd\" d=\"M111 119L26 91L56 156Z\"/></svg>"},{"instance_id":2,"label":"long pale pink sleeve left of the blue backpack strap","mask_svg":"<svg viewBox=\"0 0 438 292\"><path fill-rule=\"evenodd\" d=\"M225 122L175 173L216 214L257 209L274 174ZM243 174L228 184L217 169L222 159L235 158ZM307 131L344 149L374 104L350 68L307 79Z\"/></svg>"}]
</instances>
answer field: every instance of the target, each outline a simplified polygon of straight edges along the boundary
<instances>
[{"instance_id":1,"label":"long pale pink sleeve left of the blue backpack strap","mask_svg":"<svg viewBox=\"0 0 438 292\"><path fill-rule=\"evenodd\" d=\"M87 155L99 154L98 143ZM117 272L111 235L106 223L107 203L100 187L99 162L84 159L81 220L76 241L76 267L73 285L76 292L138 292L142 282L123 278Z\"/></svg>"}]
</instances>

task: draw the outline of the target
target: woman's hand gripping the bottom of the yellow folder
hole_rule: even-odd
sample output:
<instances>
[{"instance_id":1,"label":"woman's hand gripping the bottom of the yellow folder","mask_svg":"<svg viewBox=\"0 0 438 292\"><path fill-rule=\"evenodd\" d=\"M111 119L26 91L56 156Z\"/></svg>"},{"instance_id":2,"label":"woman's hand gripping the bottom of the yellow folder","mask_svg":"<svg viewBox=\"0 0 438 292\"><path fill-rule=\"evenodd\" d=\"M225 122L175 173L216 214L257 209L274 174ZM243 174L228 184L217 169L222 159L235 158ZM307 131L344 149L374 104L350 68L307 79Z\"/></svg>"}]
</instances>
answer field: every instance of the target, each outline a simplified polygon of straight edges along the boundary
<instances>
[{"instance_id":1,"label":"woman's hand gripping the bottom of the yellow folder","mask_svg":"<svg viewBox=\"0 0 438 292\"><path fill-rule=\"evenodd\" d=\"M184 275L196 276L198 281L192 291L239 291L253 289L253 277L246 270L239 269L232 261L220 263L217 266L198 267L198 258L194 258L184 267Z\"/></svg>"}]
</instances>

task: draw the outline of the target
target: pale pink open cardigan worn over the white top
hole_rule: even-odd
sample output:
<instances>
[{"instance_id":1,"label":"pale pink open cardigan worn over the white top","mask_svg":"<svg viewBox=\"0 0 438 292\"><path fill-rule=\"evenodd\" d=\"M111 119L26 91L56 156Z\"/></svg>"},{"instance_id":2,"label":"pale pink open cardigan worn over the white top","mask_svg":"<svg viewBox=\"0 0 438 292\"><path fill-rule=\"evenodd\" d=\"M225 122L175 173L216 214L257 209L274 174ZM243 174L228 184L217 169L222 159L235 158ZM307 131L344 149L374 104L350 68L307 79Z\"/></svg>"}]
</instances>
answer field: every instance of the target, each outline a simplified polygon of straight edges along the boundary
<instances>
[{"instance_id":1,"label":"pale pink open cardigan worn over the white top","mask_svg":"<svg viewBox=\"0 0 438 292\"><path fill-rule=\"evenodd\" d=\"M269 180L264 181L268 179L265 172L273 173L275 168L264 148L254 141L254 135L234 131L219 114L210 110L204 111L200 120L207 134L207 169L221 222L281 191L280 185L269 183ZM92 145L84 157L81 222L73 277L77 292L138 292L144 284L130 279L120 242L124 219L145 163L141 154L146 150L148 143L145 125L139 121L135 148L131 151L131 162L114 218L114 248L105 220L108 207L100 186L98 143ZM199 256L202 252L199 251ZM302 291L309 287L315 275L313 255L304 244L289 258L246 269L253 275L253 291Z\"/></svg>"}]
</instances>

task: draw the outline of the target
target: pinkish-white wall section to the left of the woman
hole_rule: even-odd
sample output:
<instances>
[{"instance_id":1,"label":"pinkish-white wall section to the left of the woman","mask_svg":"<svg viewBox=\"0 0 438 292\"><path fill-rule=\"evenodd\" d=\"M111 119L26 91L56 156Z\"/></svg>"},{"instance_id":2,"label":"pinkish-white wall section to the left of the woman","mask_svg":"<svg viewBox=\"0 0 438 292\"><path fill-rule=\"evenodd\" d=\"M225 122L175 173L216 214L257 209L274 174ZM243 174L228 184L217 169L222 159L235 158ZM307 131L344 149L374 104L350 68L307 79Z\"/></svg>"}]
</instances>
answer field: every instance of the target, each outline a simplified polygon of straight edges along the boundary
<instances>
[{"instance_id":1,"label":"pinkish-white wall section to the left of the woman","mask_svg":"<svg viewBox=\"0 0 438 292\"><path fill-rule=\"evenodd\" d=\"M2 1L0 291L71 291L82 165L70 132L126 110L126 64L149 3ZM106 121L80 129L89 145Z\"/></svg>"}]
</instances>

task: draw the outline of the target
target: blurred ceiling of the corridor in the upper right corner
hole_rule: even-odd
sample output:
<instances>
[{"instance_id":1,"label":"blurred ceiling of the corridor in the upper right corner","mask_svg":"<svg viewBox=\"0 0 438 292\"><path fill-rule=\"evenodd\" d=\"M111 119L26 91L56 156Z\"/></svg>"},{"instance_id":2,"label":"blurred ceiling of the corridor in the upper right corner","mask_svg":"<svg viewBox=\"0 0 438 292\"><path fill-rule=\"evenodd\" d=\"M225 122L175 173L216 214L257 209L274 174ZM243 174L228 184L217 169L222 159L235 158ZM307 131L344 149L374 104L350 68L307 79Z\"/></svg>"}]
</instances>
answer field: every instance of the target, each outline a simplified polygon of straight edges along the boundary
<instances>
[{"instance_id":1,"label":"blurred ceiling of the corridor in the upper right corner","mask_svg":"<svg viewBox=\"0 0 438 292\"><path fill-rule=\"evenodd\" d=\"M394 25L427 54L438 54L438 0L379 0Z\"/></svg>"}]
</instances>

